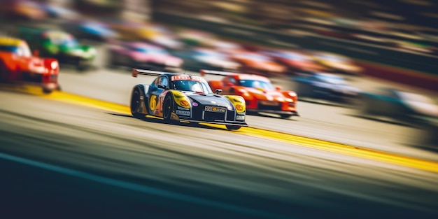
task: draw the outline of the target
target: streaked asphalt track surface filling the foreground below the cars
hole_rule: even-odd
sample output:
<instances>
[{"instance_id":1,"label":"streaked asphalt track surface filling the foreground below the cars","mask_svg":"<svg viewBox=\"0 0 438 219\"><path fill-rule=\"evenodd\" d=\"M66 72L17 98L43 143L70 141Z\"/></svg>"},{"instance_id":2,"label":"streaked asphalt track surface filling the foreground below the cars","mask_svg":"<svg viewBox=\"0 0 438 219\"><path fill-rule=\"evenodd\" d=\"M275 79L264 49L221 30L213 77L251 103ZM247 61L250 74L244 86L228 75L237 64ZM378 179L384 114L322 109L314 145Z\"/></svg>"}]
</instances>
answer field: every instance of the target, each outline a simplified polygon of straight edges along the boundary
<instances>
[{"instance_id":1,"label":"streaked asphalt track surface filling the foreground below the cars","mask_svg":"<svg viewBox=\"0 0 438 219\"><path fill-rule=\"evenodd\" d=\"M405 157L431 169L409 167L347 155L339 144L344 152L260 137L267 131L167 125L134 119L120 104L27 92L0 92L6 218L438 215L435 162Z\"/></svg>"}]
</instances>

